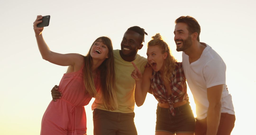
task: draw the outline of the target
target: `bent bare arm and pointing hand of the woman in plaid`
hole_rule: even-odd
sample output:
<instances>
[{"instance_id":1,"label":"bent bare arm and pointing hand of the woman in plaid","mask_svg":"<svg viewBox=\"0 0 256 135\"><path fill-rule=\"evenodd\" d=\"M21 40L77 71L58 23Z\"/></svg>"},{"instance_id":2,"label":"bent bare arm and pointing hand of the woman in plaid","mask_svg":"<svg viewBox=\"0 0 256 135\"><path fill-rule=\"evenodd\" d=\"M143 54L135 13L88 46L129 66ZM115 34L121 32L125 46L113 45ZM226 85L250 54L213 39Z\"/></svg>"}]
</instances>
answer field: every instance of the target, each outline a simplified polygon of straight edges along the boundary
<instances>
[{"instance_id":1,"label":"bent bare arm and pointing hand of the woman in plaid","mask_svg":"<svg viewBox=\"0 0 256 135\"><path fill-rule=\"evenodd\" d=\"M150 89L150 77L152 74L152 68L146 67L142 75L137 66L133 62L132 64L135 69L131 74L135 80L134 99L137 106L142 106L147 96L147 92Z\"/></svg>"}]
</instances>

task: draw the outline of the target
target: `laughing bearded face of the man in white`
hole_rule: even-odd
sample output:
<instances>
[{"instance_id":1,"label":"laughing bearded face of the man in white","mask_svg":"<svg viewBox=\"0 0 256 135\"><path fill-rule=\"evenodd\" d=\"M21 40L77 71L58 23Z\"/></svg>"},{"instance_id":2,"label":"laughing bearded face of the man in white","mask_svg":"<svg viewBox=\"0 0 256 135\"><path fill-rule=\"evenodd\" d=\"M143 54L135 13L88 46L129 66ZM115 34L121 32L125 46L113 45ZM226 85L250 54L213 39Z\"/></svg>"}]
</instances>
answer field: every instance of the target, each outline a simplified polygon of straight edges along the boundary
<instances>
[{"instance_id":1,"label":"laughing bearded face of the man in white","mask_svg":"<svg viewBox=\"0 0 256 135\"><path fill-rule=\"evenodd\" d=\"M191 34L187 29L187 24L180 22L175 25L174 41L176 43L176 50L185 51L192 45Z\"/></svg>"}]
</instances>

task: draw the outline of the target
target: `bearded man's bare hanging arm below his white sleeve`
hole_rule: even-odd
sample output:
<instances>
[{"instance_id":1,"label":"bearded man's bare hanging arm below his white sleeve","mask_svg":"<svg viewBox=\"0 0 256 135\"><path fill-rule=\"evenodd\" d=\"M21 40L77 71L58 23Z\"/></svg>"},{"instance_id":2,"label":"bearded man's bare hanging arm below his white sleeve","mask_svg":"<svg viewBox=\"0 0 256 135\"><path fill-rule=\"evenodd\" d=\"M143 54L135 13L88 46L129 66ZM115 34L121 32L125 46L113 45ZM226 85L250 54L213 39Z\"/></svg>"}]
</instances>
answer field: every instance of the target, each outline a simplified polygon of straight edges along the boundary
<instances>
[{"instance_id":1,"label":"bearded man's bare hanging arm below his white sleeve","mask_svg":"<svg viewBox=\"0 0 256 135\"><path fill-rule=\"evenodd\" d=\"M207 98L209 101L209 108L207 111L206 135L217 134L219 122L220 122L222 90L223 90L223 84L207 88Z\"/></svg>"}]
</instances>

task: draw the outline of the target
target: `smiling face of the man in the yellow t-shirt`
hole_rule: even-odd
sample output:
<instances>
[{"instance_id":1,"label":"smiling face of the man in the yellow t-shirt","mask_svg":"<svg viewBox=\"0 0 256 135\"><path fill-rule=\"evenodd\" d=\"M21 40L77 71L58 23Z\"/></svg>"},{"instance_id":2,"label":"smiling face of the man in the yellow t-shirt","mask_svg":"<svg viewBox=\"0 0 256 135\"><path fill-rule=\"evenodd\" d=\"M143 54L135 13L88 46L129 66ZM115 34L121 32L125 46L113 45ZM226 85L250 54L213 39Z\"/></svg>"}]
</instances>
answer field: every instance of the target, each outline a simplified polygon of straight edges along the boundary
<instances>
[{"instance_id":1,"label":"smiling face of the man in the yellow t-shirt","mask_svg":"<svg viewBox=\"0 0 256 135\"><path fill-rule=\"evenodd\" d=\"M124 33L123 40L121 42L121 55L135 56L137 51L142 48L141 35L135 31L127 30Z\"/></svg>"}]
</instances>

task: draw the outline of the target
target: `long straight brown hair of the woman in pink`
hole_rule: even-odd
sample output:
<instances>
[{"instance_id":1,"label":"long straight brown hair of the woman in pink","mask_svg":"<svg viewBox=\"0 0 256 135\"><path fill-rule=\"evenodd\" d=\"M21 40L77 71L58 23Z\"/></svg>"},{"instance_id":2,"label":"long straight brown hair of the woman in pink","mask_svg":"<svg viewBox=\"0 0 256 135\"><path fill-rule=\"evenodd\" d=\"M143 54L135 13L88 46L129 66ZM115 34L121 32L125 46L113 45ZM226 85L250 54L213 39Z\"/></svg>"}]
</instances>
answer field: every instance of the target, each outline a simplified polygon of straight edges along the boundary
<instances>
[{"instance_id":1,"label":"long straight brown hair of the woman in pink","mask_svg":"<svg viewBox=\"0 0 256 135\"><path fill-rule=\"evenodd\" d=\"M103 105L106 109L116 110L118 107L116 92L115 92L115 67L114 67L114 54L113 46L110 38L108 37L99 37L93 44L101 39L103 43L108 47L109 53L108 58L105 59L101 65L98 67L100 71L100 89L102 93ZM84 71L84 84L86 86L86 92L88 92L92 97L97 96L97 92L93 82L92 76L92 57L90 55L92 46L88 54L84 57L85 67Z\"/></svg>"}]
</instances>

